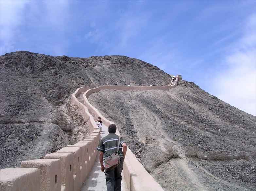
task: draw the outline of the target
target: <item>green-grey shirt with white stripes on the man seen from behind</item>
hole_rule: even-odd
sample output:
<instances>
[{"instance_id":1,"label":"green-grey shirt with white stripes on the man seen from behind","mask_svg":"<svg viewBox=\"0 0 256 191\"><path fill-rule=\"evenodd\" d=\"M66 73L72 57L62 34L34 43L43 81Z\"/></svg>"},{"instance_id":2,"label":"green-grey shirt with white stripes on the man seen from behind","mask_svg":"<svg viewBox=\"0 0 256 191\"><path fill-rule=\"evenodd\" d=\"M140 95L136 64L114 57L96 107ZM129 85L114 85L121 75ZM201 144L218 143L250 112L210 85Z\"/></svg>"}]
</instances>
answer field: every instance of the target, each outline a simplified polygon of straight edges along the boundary
<instances>
[{"instance_id":1,"label":"green-grey shirt with white stripes on the man seen from behind","mask_svg":"<svg viewBox=\"0 0 256 191\"><path fill-rule=\"evenodd\" d=\"M97 146L97 150L104 153L103 159L107 158L108 156L112 155L117 151L117 143L118 143L118 135L115 133L110 133L106 137L103 137L99 145ZM120 145L118 150L118 155L120 157L123 156L122 144L125 143L123 137L120 137Z\"/></svg>"}]
</instances>

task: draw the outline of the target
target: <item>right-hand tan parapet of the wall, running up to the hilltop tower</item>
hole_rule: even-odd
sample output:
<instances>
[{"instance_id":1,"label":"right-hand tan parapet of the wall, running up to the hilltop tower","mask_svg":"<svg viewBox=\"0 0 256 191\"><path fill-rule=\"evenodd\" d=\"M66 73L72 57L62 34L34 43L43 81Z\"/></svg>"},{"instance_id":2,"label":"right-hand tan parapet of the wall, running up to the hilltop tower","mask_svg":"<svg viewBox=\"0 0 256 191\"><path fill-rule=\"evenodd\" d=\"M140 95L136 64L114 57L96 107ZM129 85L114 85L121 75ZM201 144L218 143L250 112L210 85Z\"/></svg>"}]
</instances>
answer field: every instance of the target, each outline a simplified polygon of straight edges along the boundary
<instances>
[{"instance_id":1,"label":"right-hand tan parapet of the wall, running up to the hilltop tower","mask_svg":"<svg viewBox=\"0 0 256 191\"><path fill-rule=\"evenodd\" d=\"M181 77L181 76L180 76ZM111 86L104 85L94 89L88 89L83 94L83 101L85 106L90 110L91 115L96 117L101 117L104 125L109 126L110 124L115 124L114 122L106 119L101 113L88 101L88 97L95 92L100 90L169 90L175 88L179 81L179 76L176 77L176 83L172 86ZM120 135L117 128L116 134ZM161 191L163 190L161 185L156 182L156 180L145 170L144 166L137 160L136 156L127 148L127 154L124 161L123 174L126 185L129 191L141 191L141 190L151 190L151 191Z\"/></svg>"}]
</instances>

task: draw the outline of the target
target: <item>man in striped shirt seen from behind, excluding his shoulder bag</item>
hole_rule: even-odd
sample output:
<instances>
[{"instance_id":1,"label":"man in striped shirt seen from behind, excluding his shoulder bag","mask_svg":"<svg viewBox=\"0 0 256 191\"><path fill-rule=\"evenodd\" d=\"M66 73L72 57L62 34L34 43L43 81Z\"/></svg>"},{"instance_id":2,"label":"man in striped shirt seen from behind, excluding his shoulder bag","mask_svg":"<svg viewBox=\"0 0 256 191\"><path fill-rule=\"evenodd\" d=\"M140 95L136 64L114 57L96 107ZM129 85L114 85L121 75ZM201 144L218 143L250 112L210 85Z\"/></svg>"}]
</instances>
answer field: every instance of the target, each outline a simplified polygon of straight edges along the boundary
<instances>
[{"instance_id":1,"label":"man in striped shirt seen from behind, excluding his shoulder bag","mask_svg":"<svg viewBox=\"0 0 256 191\"><path fill-rule=\"evenodd\" d=\"M106 137L103 137L97 146L97 150L100 151L99 160L101 171L105 172L106 175L107 191L121 191L121 172L123 170L123 163L127 151L125 140L120 137L120 145L118 150L118 155L120 156L120 164L114 168L110 167L109 169L105 169L103 160L117 151L118 135L116 135L115 132L116 125L111 124L109 126L109 134Z\"/></svg>"}]
</instances>

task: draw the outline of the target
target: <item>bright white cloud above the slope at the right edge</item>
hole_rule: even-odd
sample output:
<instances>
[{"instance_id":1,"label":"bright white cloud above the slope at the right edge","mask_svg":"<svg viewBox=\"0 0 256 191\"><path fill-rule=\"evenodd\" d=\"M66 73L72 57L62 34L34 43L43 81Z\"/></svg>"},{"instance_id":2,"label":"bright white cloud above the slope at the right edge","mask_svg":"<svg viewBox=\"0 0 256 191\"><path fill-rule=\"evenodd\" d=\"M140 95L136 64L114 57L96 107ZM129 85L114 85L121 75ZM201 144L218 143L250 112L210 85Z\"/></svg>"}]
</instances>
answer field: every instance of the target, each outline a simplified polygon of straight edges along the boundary
<instances>
[{"instance_id":1,"label":"bright white cloud above the slope at the right edge","mask_svg":"<svg viewBox=\"0 0 256 191\"><path fill-rule=\"evenodd\" d=\"M256 15L245 24L243 37L226 56L228 69L215 78L215 94L220 99L256 115Z\"/></svg>"}]
</instances>

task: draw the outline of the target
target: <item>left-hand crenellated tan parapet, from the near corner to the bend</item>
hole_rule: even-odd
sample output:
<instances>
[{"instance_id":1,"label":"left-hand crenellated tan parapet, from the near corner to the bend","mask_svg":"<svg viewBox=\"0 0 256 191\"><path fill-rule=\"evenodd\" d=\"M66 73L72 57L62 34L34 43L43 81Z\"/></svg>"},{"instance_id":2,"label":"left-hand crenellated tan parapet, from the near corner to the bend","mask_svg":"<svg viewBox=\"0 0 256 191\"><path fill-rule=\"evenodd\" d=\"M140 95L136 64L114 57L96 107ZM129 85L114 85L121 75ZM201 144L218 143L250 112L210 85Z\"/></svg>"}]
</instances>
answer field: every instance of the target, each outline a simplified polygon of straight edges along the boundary
<instances>
[{"instance_id":1,"label":"left-hand crenellated tan parapet, from the near corner to the bend","mask_svg":"<svg viewBox=\"0 0 256 191\"><path fill-rule=\"evenodd\" d=\"M80 191L97 156L99 129L88 109L77 100L89 87L78 88L71 101L81 109L88 122L89 136L74 145L67 145L44 159L21 162L21 167L0 170L0 191Z\"/></svg>"}]
</instances>

